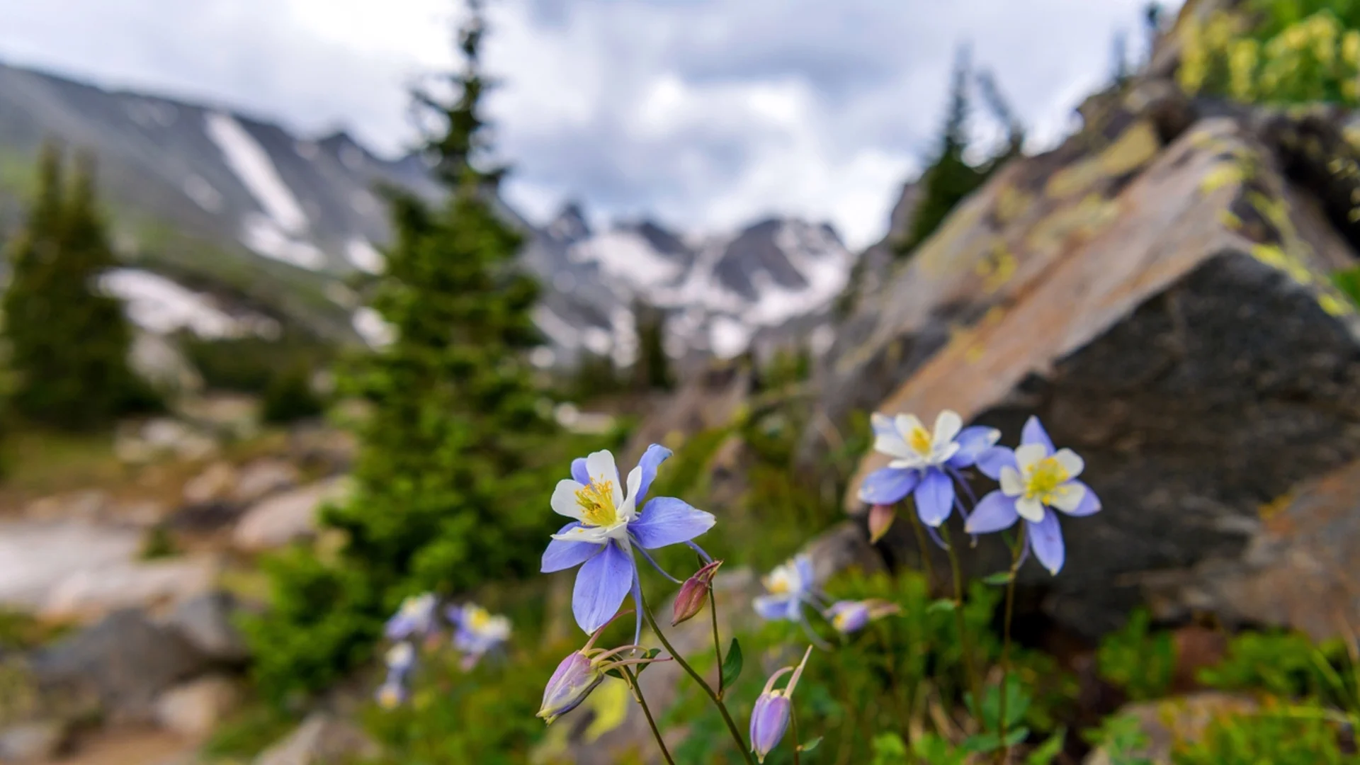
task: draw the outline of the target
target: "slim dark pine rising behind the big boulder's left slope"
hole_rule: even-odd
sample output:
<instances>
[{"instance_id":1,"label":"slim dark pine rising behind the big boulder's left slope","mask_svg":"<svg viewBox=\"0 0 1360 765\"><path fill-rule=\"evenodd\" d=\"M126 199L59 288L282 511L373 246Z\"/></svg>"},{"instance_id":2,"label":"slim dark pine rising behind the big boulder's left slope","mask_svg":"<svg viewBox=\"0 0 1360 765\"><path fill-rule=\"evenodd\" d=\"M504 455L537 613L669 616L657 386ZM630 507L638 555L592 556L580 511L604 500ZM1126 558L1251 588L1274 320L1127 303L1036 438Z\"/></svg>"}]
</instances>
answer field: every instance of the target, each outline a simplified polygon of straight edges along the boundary
<instances>
[{"instance_id":1,"label":"slim dark pine rising behind the big boulder's left slope","mask_svg":"<svg viewBox=\"0 0 1360 765\"><path fill-rule=\"evenodd\" d=\"M917 245L940 227L953 207L986 180L985 172L972 167L963 158L968 147L968 71L967 53L960 52L955 61L949 113L940 136L940 150L921 176L921 203L913 215L907 237L898 246L899 255L915 250Z\"/></svg>"}]
</instances>

